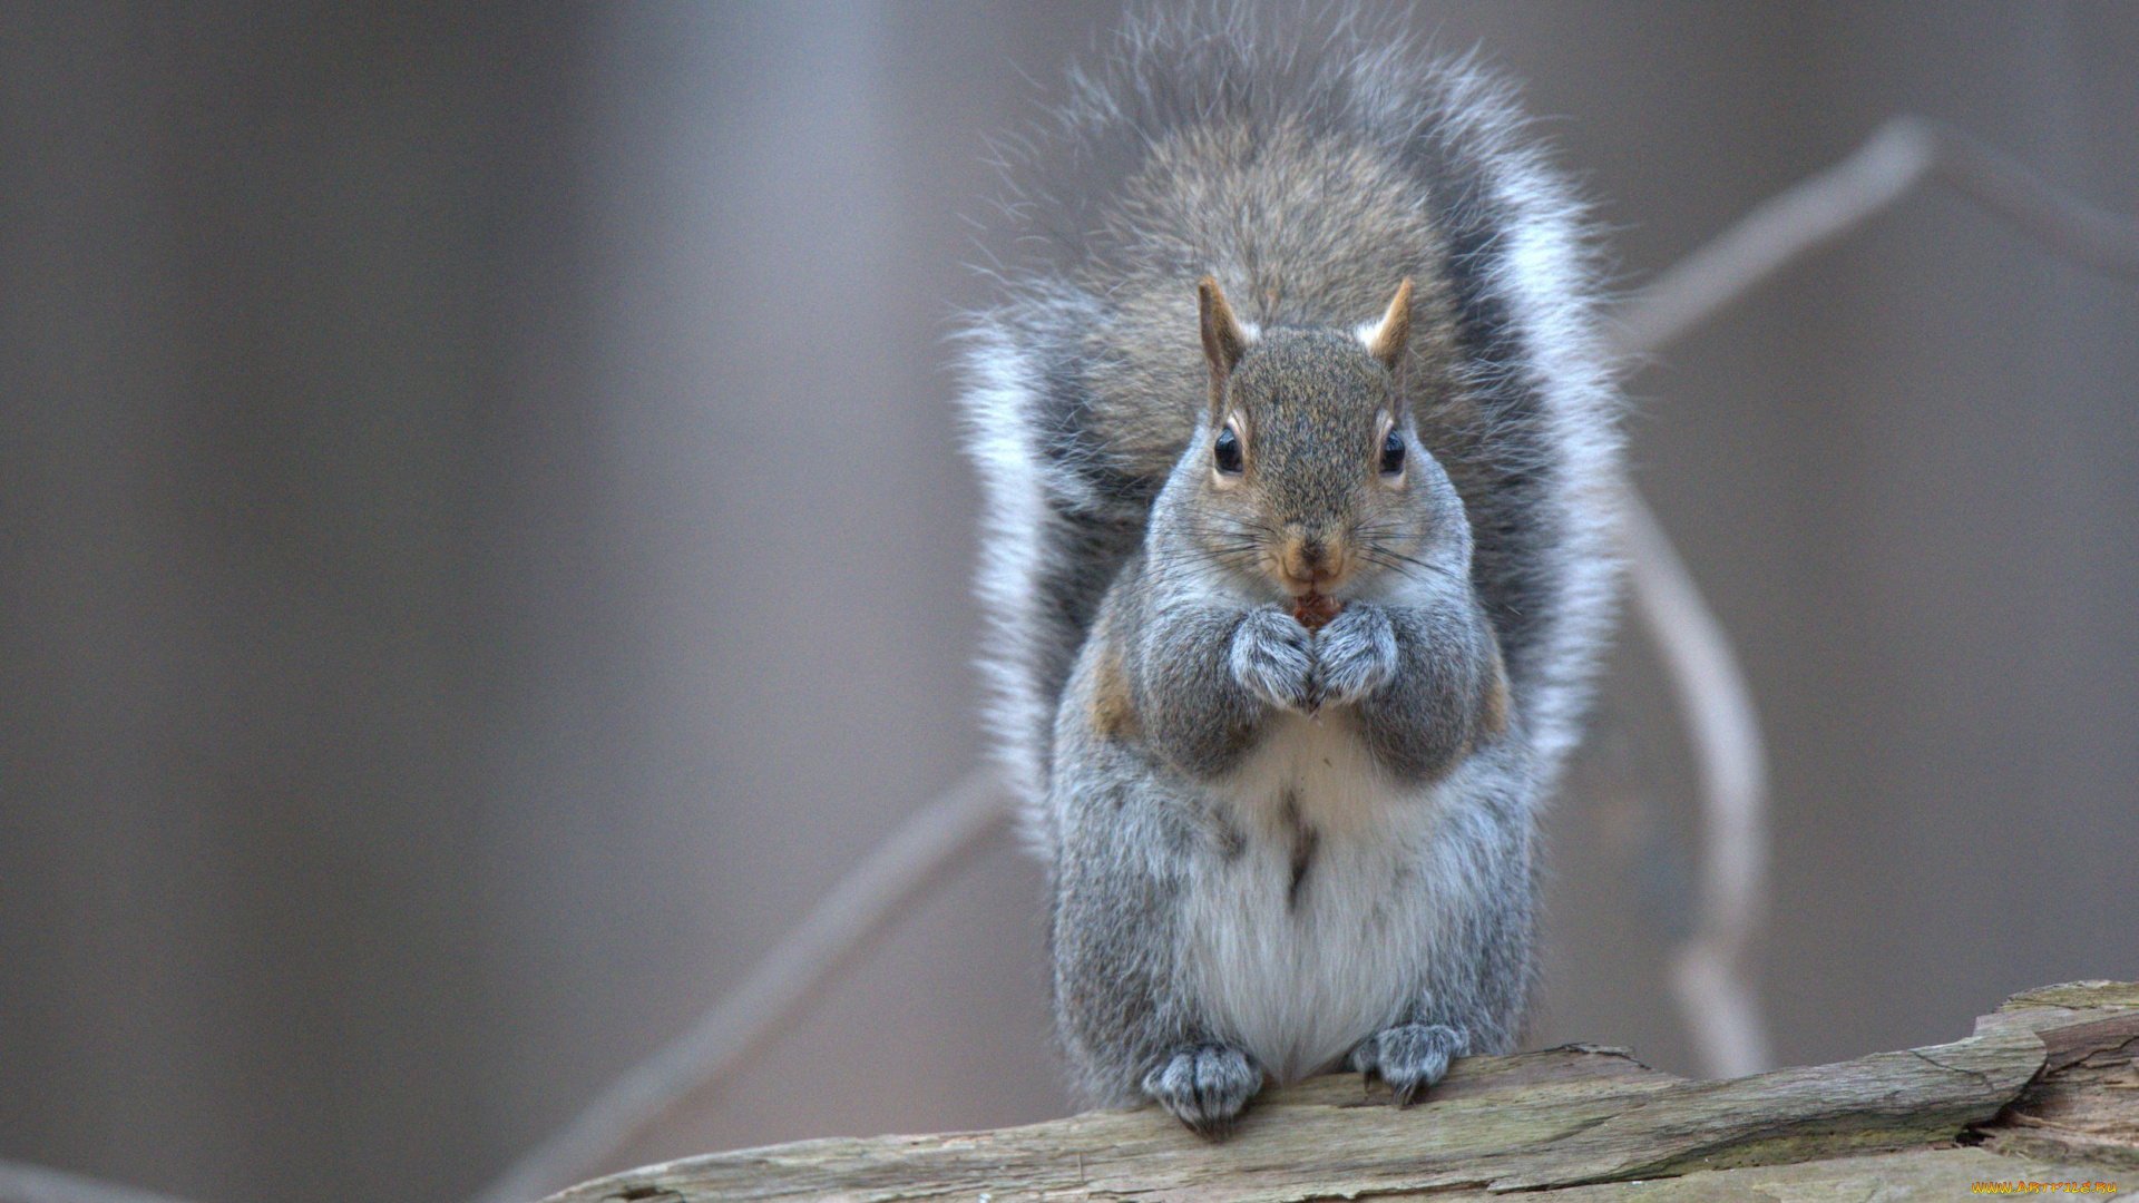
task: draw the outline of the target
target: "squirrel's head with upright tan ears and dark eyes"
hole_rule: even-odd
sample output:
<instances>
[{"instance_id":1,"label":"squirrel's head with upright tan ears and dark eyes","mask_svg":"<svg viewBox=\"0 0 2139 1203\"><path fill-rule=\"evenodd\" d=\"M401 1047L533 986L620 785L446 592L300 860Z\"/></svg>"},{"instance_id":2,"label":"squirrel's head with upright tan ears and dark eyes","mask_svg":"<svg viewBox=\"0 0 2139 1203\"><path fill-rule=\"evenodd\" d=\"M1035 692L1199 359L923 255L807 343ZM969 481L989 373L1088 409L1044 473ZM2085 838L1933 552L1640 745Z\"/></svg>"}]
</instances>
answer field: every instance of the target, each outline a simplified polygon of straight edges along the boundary
<instances>
[{"instance_id":1,"label":"squirrel's head with upright tan ears and dark eyes","mask_svg":"<svg viewBox=\"0 0 2139 1203\"><path fill-rule=\"evenodd\" d=\"M1418 563L1455 490L1399 387L1412 280L1358 330L1243 328L1209 276L1198 300L1211 407L1176 486L1202 550L1292 597Z\"/></svg>"}]
</instances>

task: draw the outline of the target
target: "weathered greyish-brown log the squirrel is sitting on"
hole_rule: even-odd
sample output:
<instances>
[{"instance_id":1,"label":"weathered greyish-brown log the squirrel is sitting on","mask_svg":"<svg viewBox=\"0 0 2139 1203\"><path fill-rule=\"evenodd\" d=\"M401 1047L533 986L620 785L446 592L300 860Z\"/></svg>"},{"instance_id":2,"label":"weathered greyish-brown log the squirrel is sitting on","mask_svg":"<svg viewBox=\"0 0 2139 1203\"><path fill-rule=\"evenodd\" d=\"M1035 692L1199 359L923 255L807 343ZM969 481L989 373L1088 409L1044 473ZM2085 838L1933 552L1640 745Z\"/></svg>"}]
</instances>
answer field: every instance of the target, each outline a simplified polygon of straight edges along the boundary
<instances>
[{"instance_id":1,"label":"weathered greyish-brown log the squirrel is sitting on","mask_svg":"<svg viewBox=\"0 0 2139 1203\"><path fill-rule=\"evenodd\" d=\"M2075 983L2017 995L1951 1045L1733 1081L1564 1047L1461 1062L1410 1109L1352 1077L1307 1081L1271 1092L1219 1145L1155 1109L1091 1111L687 1158L554 1203L1953 1199L1976 1182L2113 1184L2139 1171L2135 1055L2139 987Z\"/></svg>"}]
</instances>

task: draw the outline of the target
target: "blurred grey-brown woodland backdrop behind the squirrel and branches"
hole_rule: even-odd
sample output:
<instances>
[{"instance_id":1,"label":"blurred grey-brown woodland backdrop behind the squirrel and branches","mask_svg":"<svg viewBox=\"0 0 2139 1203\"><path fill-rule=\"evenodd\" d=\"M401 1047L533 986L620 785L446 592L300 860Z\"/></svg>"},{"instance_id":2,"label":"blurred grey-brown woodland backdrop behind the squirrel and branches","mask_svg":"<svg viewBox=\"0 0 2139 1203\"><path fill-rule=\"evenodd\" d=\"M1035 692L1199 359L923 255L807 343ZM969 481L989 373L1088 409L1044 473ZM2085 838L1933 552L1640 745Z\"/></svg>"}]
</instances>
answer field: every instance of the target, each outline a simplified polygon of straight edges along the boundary
<instances>
[{"instance_id":1,"label":"blurred grey-brown woodland backdrop behind the squirrel and branches","mask_svg":"<svg viewBox=\"0 0 2139 1203\"><path fill-rule=\"evenodd\" d=\"M11 2L0 1156L453 1201L973 764L982 139L1119 4ZM1634 287L1882 118L2139 212L2139 6L1418 4ZM1919 193L1632 379L1773 756L1784 1062L2139 976L2139 287ZM1536 1042L1690 1072L1626 638ZM1065 1109L1040 873L948 882L625 1160Z\"/></svg>"}]
</instances>

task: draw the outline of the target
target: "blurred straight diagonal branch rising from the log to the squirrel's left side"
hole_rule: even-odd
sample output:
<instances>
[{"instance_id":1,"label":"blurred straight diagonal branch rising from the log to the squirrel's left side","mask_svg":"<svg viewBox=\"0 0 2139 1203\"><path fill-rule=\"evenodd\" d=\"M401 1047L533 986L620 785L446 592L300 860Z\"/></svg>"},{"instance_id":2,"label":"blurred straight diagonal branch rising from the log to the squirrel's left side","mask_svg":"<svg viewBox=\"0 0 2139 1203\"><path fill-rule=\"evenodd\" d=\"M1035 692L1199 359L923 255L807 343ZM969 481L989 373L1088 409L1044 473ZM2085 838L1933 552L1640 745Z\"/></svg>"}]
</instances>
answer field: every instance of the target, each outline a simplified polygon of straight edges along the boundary
<instances>
[{"instance_id":1,"label":"blurred straight diagonal branch rising from the log to the squirrel's left side","mask_svg":"<svg viewBox=\"0 0 2139 1203\"><path fill-rule=\"evenodd\" d=\"M736 1072L817 1000L832 974L1007 818L1010 796L992 771L969 773L915 811L757 961L740 989L610 1083L571 1124L507 1167L475 1203L528 1203L571 1186L680 1102Z\"/></svg>"}]
</instances>

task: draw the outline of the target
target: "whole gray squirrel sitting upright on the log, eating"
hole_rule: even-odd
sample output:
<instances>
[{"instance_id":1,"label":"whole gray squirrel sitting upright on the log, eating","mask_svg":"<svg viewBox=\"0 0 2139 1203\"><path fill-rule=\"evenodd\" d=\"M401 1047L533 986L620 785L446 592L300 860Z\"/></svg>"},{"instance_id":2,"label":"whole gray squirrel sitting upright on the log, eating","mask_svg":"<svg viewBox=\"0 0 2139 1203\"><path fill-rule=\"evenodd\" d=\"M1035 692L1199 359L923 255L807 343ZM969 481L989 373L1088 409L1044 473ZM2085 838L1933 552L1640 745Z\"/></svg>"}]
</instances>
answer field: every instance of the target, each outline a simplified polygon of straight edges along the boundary
<instances>
[{"instance_id":1,"label":"whole gray squirrel sitting upright on the log, eating","mask_svg":"<svg viewBox=\"0 0 2139 1203\"><path fill-rule=\"evenodd\" d=\"M988 719L1076 1094L1221 1137L1506 1053L1611 616L1581 210L1469 60L1134 15L969 332Z\"/></svg>"}]
</instances>

